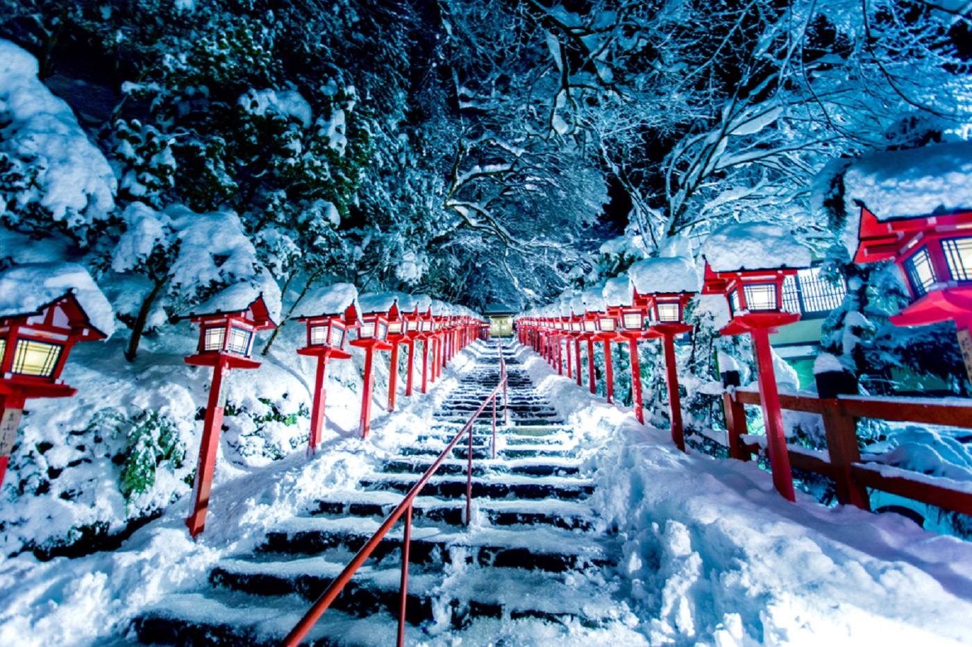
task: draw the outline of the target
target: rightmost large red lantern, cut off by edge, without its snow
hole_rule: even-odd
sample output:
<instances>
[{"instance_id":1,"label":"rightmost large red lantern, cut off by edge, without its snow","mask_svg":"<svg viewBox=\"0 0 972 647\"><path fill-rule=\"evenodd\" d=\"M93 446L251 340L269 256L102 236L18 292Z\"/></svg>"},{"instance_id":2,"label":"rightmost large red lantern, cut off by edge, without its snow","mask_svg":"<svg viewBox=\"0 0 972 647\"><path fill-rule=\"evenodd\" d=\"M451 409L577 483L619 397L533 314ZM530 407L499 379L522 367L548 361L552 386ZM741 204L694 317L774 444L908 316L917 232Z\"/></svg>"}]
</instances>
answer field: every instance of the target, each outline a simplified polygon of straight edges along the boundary
<instances>
[{"instance_id":1,"label":"rightmost large red lantern, cut off by edge, without its snow","mask_svg":"<svg viewBox=\"0 0 972 647\"><path fill-rule=\"evenodd\" d=\"M895 325L954 322L972 382L972 211L879 221L861 208L854 262L893 260L912 303Z\"/></svg>"}]
</instances>

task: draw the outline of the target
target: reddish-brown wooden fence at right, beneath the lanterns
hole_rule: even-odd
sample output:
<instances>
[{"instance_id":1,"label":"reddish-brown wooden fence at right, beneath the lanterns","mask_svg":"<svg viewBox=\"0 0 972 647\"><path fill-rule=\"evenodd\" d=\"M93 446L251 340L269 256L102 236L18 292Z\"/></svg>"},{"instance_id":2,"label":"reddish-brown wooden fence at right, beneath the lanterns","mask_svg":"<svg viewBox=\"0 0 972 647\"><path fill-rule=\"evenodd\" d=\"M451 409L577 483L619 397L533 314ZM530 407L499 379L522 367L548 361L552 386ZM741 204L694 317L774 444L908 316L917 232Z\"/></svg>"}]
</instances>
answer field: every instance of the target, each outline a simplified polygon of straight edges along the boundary
<instances>
[{"instance_id":1,"label":"reddish-brown wooden fence at right, beneath the lanterns","mask_svg":"<svg viewBox=\"0 0 972 647\"><path fill-rule=\"evenodd\" d=\"M729 456L749 460L763 443L746 431L745 405L760 405L759 392L735 389L723 394ZM867 488L897 494L929 505L972 515L972 487L953 479L890 467L861 459L857 419L972 428L972 400L840 395L820 398L780 393L782 409L818 414L823 420L827 451L787 446L790 464L834 481L837 500L870 509Z\"/></svg>"}]
</instances>

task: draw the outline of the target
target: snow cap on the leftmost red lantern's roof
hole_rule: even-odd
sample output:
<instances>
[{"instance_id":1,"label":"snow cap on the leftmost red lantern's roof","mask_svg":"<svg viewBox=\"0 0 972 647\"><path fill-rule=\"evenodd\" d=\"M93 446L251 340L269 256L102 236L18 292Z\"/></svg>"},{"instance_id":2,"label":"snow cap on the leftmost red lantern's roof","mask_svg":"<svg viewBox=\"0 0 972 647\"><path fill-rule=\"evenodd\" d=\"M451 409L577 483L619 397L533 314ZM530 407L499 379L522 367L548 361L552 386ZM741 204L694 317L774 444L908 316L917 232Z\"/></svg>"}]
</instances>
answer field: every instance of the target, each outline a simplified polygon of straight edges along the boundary
<instances>
[{"instance_id":1,"label":"snow cap on the leftmost red lantern's roof","mask_svg":"<svg viewBox=\"0 0 972 647\"><path fill-rule=\"evenodd\" d=\"M39 313L71 293L87 321L106 337L115 331L115 313L87 269L77 263L25 263L0 272L0 317Z\"/></svg>"}]
</instances>

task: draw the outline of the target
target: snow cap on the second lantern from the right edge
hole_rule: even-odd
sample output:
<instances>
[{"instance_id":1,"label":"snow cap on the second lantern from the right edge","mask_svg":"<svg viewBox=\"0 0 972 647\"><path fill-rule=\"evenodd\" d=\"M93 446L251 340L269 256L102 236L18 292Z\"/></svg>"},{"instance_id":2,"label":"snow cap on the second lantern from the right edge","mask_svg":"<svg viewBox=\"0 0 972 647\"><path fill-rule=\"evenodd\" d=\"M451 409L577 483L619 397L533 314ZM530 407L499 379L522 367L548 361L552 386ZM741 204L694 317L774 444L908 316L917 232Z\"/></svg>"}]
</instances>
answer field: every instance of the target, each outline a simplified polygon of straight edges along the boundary
<instances>
[{"instance_id":1,"label":"snow cap on the second lantern from the right edge","mask_svg":"<svg viewBox=\"0 0 972 647\"><path fill-rule=\"evenodd\" d=\"M716 229L702 245L715 272L810 267L810 249L770 222L737 222ZM635 284L636 289L638 284ZM641 289L639 289L641 291Z\"/></svg>"}]
</instances>

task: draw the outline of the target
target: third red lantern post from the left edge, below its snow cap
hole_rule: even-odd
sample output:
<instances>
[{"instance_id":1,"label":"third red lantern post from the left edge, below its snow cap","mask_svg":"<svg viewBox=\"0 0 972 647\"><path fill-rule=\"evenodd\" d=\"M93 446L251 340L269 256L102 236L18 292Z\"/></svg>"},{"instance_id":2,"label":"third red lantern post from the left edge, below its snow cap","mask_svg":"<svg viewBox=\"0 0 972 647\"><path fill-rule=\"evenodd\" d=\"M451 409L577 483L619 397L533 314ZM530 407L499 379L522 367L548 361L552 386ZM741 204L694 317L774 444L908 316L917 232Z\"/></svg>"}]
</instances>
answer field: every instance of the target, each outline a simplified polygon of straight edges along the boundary
<instances>
[{"instance_id":1,"label":"third red lantern post from the left edge, below its snow cap","mask_svg":"<svg viewBox=\"0 0 972 647\"><path fill-rule=\"evenodd\" d=\"M322 314L317 317L298 317L307 324L306 346L297 349L299 355L317 358L314 378L313 410L310 416L310 436L307 439L307 452L314 454L324 433L324 407L327 397L327 369L331 359L349 359L351 354L344 350L347 331L359 324L358 309L354 303L348 305L343 314Z\"/></svg>"}]
</instances>

